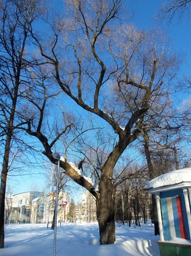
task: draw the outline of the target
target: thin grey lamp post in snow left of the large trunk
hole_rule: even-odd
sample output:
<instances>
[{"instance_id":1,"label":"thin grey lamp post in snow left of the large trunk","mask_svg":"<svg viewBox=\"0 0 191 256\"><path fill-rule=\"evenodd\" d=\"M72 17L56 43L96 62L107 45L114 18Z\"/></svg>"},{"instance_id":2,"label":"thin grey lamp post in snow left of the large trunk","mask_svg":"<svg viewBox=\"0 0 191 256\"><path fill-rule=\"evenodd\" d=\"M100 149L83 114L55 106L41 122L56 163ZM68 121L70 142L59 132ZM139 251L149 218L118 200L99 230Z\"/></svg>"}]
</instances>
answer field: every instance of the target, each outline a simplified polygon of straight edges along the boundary
<instances>
[{"instance_id":1,"label":"thin grey lamp post in snow left of the large trunk","mask_svg":"<svg viewBox=\"0 0 191 256\"><path fill-rule=\"evenodd\" d=\"M55 201L55 218L54 218L54 251L53 256L56 256L56 233L57 233L57 210L58 210L58 180L59 180L59 169L60 169L60 155L53 153L53 157L58 160L57 175L56 175L56 201Z\"/></svg>"}]
</instances>

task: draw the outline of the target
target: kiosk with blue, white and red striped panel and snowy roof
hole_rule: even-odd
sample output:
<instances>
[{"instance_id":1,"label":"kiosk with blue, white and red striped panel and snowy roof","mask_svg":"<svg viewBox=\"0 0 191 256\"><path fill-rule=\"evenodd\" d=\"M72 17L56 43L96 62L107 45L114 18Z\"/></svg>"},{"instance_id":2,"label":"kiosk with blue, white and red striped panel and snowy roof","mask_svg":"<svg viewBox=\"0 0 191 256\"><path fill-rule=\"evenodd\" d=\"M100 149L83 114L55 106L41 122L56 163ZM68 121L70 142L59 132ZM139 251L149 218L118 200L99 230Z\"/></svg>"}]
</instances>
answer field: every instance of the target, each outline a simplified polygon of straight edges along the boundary
<instances>
[{"instance_id":1,"label":"kiosk with blue, white and red striped panel and snowy roof","mask_svg":"<svg viewBox=\"0 0 191 256\"><path fill-rule=\"evenodd\" d=\"M161 256L190 256L191 168L156 177L146 189L156 195Z\"/></svg>"}]
</instances>

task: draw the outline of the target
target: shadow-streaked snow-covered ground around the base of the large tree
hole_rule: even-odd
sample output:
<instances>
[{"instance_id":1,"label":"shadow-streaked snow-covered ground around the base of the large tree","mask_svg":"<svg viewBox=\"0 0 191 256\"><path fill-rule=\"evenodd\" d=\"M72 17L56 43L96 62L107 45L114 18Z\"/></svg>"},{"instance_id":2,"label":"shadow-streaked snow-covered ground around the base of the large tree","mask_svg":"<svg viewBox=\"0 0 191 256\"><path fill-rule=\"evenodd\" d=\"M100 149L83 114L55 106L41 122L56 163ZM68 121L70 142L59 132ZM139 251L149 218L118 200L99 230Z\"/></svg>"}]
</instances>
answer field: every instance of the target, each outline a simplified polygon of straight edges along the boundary
<instances>
[{"instance_id":1,"label":"shadow-streaked snow-covered ground around the base of the large tree","mask_svg":"<svg viewBox=\"0 0 191 256\"><path fill-rule=\"evenodd\" d=\"M7 224L5 228L1 256L53 255L54 231L46 224ZM116 224L115 244L99 245L97 223L64 224L57 227L56 256L159 256L158 240L152 225Z\"/></svg>"}]
</instances>

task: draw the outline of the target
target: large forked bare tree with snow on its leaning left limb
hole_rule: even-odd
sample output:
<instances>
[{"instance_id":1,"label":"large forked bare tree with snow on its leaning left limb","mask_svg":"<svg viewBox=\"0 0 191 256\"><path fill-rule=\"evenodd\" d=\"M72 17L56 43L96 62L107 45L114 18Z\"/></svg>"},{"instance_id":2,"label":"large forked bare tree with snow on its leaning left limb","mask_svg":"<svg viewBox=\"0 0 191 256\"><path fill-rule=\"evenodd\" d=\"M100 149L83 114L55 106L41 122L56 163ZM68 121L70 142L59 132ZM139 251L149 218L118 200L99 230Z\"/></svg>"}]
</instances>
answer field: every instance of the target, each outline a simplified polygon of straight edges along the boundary
<instances>
[{"instance_id":1,"label":"large forked bare tree with snow on its leaning left limb","mask_svg":"<svg viewBox=\"0 0 191 256\"><path fill-rule=\"evenodd\" d=\"M120 0L68 1L64 7L68 16L57 21L54 16L54 23L49 17L46 22L50 37L39 36L38 29L30 32L42 62L53 68L54 82L112 132L113 147L101 164L97 186L67 155L60 158L66 174L96 197L100 244L104 245L115 242L113 171L147 126L146 113L152 116L155 104L165 101L177 59L159 31L138 31L119 19ZM41 125L37 127L28 120L27 132L42 142L44 154L56 163L53 143Z\"/></svg>"}]
</instances>

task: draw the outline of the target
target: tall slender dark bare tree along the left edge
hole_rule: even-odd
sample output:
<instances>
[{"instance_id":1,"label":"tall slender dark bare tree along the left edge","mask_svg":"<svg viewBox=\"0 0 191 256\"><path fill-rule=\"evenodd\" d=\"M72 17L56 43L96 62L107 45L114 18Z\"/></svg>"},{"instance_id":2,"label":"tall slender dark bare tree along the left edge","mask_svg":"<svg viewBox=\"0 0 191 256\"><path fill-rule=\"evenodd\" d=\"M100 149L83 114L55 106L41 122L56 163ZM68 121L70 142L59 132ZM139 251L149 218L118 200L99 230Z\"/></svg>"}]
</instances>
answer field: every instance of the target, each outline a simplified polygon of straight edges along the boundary
<instances>
[{"instance_id":1,"label":"tall slender dark bare tree along the left edge","mask_svg":"<svg viewBox=\"0 0 191 256\"><path fill-rule=\"evenodd\" d=\"M27 147L19 127L20 96L28 86L27 69L32 65L29 45L29 28L42 13L41 1L1 1L0 5L0 139L2 171L0 191L0 248L4 248L4 210L7 175L11 148Z\"/></svg>"}]
</instances>

